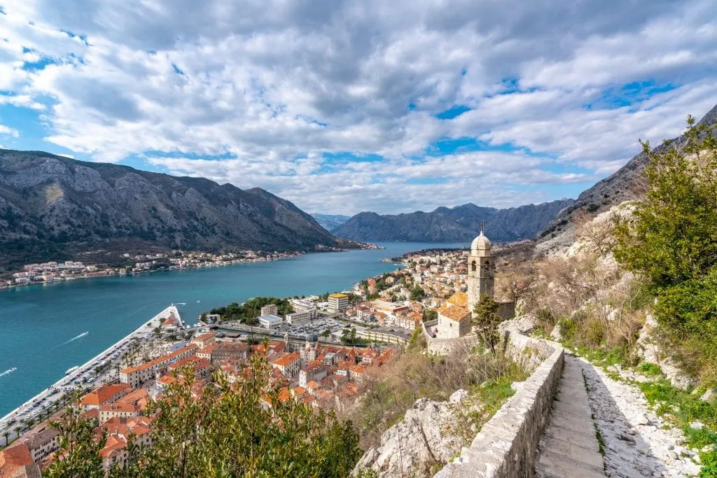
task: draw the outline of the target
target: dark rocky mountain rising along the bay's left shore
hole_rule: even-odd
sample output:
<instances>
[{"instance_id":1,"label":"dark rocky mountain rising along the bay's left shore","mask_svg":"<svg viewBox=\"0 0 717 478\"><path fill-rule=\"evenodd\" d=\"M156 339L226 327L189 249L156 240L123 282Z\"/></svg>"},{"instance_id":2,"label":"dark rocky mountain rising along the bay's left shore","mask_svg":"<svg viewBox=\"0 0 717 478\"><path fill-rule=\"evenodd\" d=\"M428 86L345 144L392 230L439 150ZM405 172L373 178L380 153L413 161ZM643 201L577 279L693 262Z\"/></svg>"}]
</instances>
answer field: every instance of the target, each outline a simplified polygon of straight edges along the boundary
<instances>
[{"instance_id":1,"label":"dark rocky mountain rising along the bay's left shore","mask_svg":"<svg viewBox=\"0 0 717 478\"><path fill-rule=\"evenodd\" d=\"M289 201L204 178L0 150L0 264L88 249L351 247Z\"/></svg>"}]
</instances>

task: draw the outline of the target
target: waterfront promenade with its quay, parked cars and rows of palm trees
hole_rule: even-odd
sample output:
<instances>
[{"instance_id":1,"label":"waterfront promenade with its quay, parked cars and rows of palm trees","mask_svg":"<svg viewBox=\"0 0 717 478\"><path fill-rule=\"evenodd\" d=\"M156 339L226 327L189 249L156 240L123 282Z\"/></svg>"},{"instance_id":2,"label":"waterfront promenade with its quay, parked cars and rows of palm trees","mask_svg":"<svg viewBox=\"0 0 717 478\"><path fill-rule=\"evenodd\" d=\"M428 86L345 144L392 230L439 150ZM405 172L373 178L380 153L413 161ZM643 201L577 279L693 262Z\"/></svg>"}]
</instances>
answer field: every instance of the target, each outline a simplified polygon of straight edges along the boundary
<instances>
[{"instance_id":1,"label":"waterfront promenade with its quay, parked cars and rows of palm trees","mask_svg":"<svg viewBox=\"0 0 717 478\"><path fill-rule=\"evenodd\" d=\"M66 376L60 378L60 380L45 388L36 396L30 398L28 401L15 408L13 411L9 412L9 414L0 418L0 432L9 431L12 438L12 434L15 433L19 426L22 426L21 421L35 419L42 411L52 409L54 402L60 400L60 398L62 398L67 391L71 391L73 388L77 388L77 386L90 389L95 386L99 386L102 383L107 383L107 376L111 374L111 369L100 376L92 377L92 373L95 369L100 365L103 365L108 360L111 361L118 358L120 353L128 347L130 342L135 340L146 340L151 335L153 330L161 324L161 319L168 317L172 313L174 313L174 317L181 321L179 310L174 304L166 307L164 310L152 317L151 320L144 322L136 330L133 330L133 332L121 338L109 348L98 353L95 357L87 360L87 362L80 365L77 369L75 369L75 371L72 371ZM90 380L83 382L85 378L90 377L92 377Z\"/></svg>"}]
</instances>

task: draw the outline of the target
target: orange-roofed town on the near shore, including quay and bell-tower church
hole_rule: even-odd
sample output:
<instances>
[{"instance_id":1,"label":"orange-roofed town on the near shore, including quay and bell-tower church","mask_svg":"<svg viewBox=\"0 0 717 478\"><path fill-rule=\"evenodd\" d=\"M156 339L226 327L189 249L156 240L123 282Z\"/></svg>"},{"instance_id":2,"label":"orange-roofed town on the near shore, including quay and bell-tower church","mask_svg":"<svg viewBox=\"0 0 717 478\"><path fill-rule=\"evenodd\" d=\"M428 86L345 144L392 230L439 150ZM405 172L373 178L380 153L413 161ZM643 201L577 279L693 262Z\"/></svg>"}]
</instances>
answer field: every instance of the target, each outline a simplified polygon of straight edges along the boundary
<instances>
[{"instance_id":1,"label":"orange-roofed town on the near shore, including quay and bell-tower church","mask_svg":"<svg viewBox=\"0 0 717 478\"><path fill-rule=\"evenodd\" d=\"M397 259L394 259L396 261ZM376 383L384 365L422 340L429 353L467 338L473 305L495 294L495 257L481 232L470 251L434 250L406 254L394 272L369 277L353 290L323 296L255 297L242 305L205 312L186 325L168 307L135 333L98 355L0 421L0 434L16 441L0 453L17 466L47 467L60 447L49 421L62 416L76 388L75 409L95 421L108 439L100 455L105 469L128 457L134 436L151 446L152 401L191 373L199 398L221 374L242 379L252 357L271 368L275 400L346 412ZM498 287L501 314L512 313L510 287ZM506 292L507 291L507 292ZM502 302L501 302L502 301Z\"/></svg>"}]
</instances>

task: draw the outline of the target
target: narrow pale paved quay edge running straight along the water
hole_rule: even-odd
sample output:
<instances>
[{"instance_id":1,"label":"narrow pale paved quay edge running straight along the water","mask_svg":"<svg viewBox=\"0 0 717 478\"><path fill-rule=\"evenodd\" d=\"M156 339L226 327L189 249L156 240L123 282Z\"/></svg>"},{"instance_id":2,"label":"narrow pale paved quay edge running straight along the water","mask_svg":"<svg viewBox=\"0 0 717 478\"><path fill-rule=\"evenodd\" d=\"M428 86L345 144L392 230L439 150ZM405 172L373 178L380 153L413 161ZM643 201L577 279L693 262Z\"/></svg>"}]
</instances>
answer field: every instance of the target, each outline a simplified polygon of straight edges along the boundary
<instances>
[{"instance_id":1,"label":"narrow pale paved quay edge running straight along the water","mask_svg":"<svg viewBox=\"0 0 717 478\"><path fill-rule=\"evenodd\" d=\"M36 403L42 400L42 398L47 398L50 396L54 397L54 399L47 401L47 403L45 404L44 408L47 408L47 406L51 405L52 403L54 403L54 401L57 401L61 396L65 395L65 391L62 390L62 387L70 385L72 381L77 378L77 376L81 376L83 373L91 371L92 368L96 368L99 365L102 365L103 356L114 353L115 350L118 350L118 348L120 348L123 343L135 338L141 338L140 335L142 334L151 333L151 331L160 324L159 320L163 317L166 317L171 312L174 312L174 315L177 317L177 319L181 320L181 316L179 315L179 309L177 309L176 305L173 304L164 308L161 312L152 317L150 320L148 320L147 322L143 322L142 325L130 332L128 335L125 335L125 337L120 338L120 340L113 343L113 345L110 345L110 347L106 348L94 357L90 358L90 360L87 360L85 363L82 363L82 365L78 365L79 368L75 369L75 371L72 371L72 373L69 373L64 377L60 378L60 380L52 383L51 385L44 388L44 390L37 393L37 395L33 396L32 398L29 398L27 401L24 401L24 403L21 403L19 406L16 406L5 416L0 417L0 429L8 429L7 422L11 419L16 419L17 422L19 412L31 410L32 403ZM54 393L50 394L49 391L52 389L57 390Z\"/></svg>"}]
</instances>

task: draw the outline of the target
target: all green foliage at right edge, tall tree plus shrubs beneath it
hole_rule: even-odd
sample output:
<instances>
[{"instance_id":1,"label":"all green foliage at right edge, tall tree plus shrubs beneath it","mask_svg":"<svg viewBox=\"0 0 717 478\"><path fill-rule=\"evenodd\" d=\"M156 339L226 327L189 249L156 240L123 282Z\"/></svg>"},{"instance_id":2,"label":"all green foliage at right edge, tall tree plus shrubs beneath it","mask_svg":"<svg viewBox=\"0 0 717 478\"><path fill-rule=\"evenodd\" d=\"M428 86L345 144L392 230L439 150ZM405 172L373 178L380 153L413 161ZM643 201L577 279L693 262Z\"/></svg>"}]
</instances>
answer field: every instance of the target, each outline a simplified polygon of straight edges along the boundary
<instances>
[{"instance_id":1,"label":"all green foliage at right edge, tall tree plus shrubs beneath it","mask_svg":"<svg viewBox=\"0 0 717 478\"><path fill-rule=\"evenodd\" d=\"M648 186L618 220L615 258L648 280L655 316L685 371L717 384L717 140L688 118L685 142L651 151Z\"/></svg>"}]
</instances>

